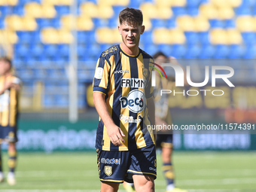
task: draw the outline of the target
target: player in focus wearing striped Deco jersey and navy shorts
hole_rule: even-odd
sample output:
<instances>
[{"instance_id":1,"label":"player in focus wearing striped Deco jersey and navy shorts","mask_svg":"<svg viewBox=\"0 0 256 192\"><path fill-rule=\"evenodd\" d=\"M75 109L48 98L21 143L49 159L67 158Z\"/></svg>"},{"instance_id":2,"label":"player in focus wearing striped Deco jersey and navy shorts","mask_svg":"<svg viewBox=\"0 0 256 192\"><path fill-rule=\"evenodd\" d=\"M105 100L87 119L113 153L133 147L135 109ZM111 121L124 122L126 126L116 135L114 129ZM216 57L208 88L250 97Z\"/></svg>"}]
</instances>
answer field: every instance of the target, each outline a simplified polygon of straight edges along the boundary
<instances>
[{"instance_id":1,"label":"player in focus wearing striped Deco jersey and navy shorts","mask_svg":"<svg viewBox=\"0 0 256 192\"><path fill-rule=\"evenodd\" d=\"M153 192L157 178L153 59L139 49L145 30L142 11L120 11L122 43L99 57L93 80L93 102L99 113L96 133L101 192L117 191L123 181L134 181L136 191Z\"/></svg>"}]
</instances>

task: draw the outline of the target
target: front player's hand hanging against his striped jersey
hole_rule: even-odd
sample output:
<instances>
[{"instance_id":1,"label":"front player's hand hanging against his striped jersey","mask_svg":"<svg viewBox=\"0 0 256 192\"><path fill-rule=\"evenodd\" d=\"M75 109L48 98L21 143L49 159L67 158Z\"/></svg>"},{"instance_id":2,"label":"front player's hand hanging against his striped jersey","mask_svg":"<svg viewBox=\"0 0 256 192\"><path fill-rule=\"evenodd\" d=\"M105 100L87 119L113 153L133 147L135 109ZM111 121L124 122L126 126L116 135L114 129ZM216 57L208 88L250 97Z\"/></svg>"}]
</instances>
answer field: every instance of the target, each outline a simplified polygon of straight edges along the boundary
<instances>
[{"instance_id":1,"label":"front player's hand hanging against his striped jersey","mask_svg":"<svg viewBox=\"0 0 256 192\"><path fill-rule=\"evenodd\" d=\"M108 137L115 146L122 146L124 142L123 137L125 136L120 127L114 125L107 129Z\"/></svg>"}]
</instances>

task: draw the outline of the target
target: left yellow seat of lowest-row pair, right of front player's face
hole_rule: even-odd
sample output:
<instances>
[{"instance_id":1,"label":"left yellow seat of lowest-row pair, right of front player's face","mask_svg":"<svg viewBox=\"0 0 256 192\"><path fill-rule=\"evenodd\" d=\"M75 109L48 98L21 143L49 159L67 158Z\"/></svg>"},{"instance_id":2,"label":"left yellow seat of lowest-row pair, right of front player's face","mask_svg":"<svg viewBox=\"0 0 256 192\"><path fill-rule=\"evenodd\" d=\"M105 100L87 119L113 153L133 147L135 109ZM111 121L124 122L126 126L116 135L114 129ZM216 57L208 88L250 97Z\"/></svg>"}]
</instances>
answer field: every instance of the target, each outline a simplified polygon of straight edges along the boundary
<instances>
[{"instance_id":1,"label":"left yellow seat of lowest-row pair, right of front player's face","mask_svg":"<svg viewBox=\"0 0 256 192\"><path fill-rule=\"evenodd\" d=\"M153 42L154 44L171 44L172 39L170 36L169 29L159 28L153 31Z\"/></svg>"}]
</instances>

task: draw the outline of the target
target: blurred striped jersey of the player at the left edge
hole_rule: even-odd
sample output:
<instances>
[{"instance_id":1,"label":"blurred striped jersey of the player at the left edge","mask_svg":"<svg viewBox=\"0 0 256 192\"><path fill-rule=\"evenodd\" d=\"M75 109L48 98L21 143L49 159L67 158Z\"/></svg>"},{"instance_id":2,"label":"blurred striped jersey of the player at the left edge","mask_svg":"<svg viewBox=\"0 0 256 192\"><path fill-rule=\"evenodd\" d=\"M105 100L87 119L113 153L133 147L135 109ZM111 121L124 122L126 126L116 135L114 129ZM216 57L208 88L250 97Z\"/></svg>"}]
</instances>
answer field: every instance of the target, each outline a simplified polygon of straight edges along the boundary
<instances>
[{"instance_id":1,"label":"blurred striped jersey of the player at the left edge","mask_svg":"<svg viewBox=\"0 0 256 192\"><path fill-rule=\"evenodd\" d=\"M0 90L6 82L16 80L14 76L0 77ZM20 81L20 80L19 80ZM18 92L14 88L0 95L0 126L16 126L18 113Z\"/></svg>"}]
</instances>

